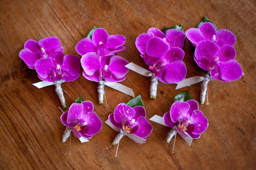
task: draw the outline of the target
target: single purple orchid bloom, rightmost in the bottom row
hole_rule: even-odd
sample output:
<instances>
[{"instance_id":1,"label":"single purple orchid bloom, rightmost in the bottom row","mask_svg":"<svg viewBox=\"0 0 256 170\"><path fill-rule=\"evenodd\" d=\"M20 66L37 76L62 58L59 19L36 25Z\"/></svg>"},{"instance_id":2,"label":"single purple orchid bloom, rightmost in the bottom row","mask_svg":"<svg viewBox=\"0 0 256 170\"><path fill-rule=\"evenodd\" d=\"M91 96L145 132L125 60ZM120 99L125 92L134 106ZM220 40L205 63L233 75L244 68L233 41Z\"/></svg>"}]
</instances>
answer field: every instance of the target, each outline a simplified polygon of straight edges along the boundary
<instances>
[{"instance_id":1,"label":"single purple orchid bloom, rightmost in the bottom row","mask_svg":"<svg viewBox=\"0 0 256 170\"><path fill-rule=\"evenodd\" d=\"M163 115L164 123L168 127L176 128L183 137L186 137L184 132L187 132L193 139L200 138L200 134L208 127L208 120L198 108L195 100L177 101Z\"/></svg>"}]
</instances>

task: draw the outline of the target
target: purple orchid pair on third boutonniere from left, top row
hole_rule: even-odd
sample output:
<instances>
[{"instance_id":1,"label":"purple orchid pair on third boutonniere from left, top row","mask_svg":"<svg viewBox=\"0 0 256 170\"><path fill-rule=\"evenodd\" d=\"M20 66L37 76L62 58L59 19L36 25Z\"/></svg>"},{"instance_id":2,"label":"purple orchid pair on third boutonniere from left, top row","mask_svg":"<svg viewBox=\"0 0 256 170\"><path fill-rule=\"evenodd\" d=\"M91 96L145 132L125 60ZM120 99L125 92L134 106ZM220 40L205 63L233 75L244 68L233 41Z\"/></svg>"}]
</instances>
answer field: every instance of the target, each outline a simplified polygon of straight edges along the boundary
<instances>
[{"instance_id":1,"label":"purple orchid pair on third boutonniere from left, top row","mask_svg":"<svg viewBox=\"0 0 256 170\"><path fill-rule=\"evenodd\" d=\"M182 61L185 34L169 29L165 34L157 28L140 34L136 41L141 57L154 72L154 77L164 83L178 83L185 79L187 69Z\"/></svg>"}]
</instances>

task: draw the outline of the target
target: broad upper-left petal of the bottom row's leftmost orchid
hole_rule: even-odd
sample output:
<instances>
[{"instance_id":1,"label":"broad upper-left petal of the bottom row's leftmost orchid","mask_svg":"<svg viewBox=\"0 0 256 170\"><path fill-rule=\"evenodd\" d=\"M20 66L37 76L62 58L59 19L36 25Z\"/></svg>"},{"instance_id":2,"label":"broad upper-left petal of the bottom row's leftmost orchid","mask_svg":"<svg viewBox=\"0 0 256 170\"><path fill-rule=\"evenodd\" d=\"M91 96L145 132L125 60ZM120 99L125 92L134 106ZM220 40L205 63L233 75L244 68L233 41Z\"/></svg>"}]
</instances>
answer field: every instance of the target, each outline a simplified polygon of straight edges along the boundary
<instances>
[{"instance_id":1,"label":"broad upper-left petal of the bottom row's leftmost orchid","mask_svg":"<svg viewBox=\"0 0 256 170\"><path fill-rule=\"evenodd\" d=\"M67 123L71 124L74 120L80 120L82 116L82 105L73 103L69 108Z\"/></svg>"}]
</instances>

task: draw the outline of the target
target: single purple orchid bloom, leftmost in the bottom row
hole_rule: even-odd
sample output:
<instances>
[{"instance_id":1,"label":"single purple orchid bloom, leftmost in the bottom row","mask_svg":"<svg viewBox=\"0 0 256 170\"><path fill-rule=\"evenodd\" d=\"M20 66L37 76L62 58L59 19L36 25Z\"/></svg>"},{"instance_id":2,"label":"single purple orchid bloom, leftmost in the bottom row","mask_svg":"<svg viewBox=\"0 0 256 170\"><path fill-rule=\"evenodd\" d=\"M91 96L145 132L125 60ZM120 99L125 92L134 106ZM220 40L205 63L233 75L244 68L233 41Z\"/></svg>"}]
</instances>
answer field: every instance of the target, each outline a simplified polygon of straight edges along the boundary
<instances>
[{"instance_id":1,"label":"single purple orchid bloom, leftmost in the bottom row","mask_svg":"<svg viewBox=\"0 0 256 170\"><path fill-rule=\"evenodd\" d=\"M74 136L80 138L92 138L102 128L102 122L93 112L93 103L84 101L80 103L73 103L68 112L60 116L63 125L71 128Z\"/></svg>"}]
</instances>

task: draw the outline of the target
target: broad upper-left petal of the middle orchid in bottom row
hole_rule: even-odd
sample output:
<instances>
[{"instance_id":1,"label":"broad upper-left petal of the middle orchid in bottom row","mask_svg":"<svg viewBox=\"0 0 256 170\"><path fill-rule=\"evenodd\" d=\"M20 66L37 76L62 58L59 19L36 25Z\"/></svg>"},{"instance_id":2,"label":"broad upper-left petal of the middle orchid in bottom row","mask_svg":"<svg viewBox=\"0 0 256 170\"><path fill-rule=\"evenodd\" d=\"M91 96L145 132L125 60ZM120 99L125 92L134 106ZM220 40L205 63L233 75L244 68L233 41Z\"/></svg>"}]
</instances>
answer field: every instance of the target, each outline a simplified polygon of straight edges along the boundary
<instances>
[{"instance_id":1,"label":"broad upper-left petal of the middle orchid in bottom row","mask_svg":"<svg viewBox=\"0 0 256 170\"><path fill-rule=\"evenodd\" d=\"M132 119L134 116L135 116L135 110L131 106L128 106L124 103L120 103L115 108L114 119L116 123L121 123L125 117Z\"/></svg>"}]
</instances>

